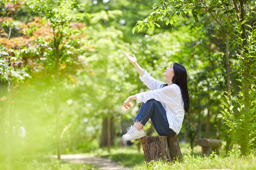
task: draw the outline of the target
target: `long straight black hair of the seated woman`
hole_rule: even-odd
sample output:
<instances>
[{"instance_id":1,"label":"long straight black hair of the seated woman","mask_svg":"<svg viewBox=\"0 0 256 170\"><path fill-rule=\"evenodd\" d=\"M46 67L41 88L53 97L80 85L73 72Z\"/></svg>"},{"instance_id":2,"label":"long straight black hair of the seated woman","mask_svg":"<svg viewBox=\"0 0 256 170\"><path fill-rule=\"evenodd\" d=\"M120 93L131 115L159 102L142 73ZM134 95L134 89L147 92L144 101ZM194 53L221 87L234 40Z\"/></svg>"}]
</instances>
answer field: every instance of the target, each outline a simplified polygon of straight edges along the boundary
<instances>
[{"instance_id":1,"label":"long straight black hair of the seated woman","mask_svg":"<svg viewBox=\"0 0 256 170\"><path fill-rule=\"evenodd\" d=\"M187 70L184 66L173 63L173 71L174 76L172 78L173 84L177 84L180 88L181 95L182 95L182 101L184 104L184 110L185 112L189 112L189 106L190 106L190 93L188 89L188 81L187 81ZM160 88L163 88L165 86L168 86L168 84L162 84Z\"/></svg>"}]
</instances>

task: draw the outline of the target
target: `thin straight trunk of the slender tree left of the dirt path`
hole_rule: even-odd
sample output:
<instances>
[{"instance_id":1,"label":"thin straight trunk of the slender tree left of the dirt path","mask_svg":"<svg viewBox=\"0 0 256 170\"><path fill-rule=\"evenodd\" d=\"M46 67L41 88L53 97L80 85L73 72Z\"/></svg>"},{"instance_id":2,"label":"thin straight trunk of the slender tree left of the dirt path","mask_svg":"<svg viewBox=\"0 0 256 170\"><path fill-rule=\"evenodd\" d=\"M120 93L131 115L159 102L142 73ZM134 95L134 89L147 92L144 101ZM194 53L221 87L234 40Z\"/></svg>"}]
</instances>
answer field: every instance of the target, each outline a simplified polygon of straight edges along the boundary
<instances>
[{"instance_id":1,"label":"thin straight trunk of the slender tree left of the dirt path","mask_svg":"<svg viewBox=\"0 0 256 170\"><path fill-rule=\"evenodd\" d=\"M60 121L59 121L59 44L56 44L56 58L55 58L55 68L56 68L56 97L55 97L55 115L56 115L56 145L57 145L57 155L60 159Z\"/></svg>"}]
</instances>

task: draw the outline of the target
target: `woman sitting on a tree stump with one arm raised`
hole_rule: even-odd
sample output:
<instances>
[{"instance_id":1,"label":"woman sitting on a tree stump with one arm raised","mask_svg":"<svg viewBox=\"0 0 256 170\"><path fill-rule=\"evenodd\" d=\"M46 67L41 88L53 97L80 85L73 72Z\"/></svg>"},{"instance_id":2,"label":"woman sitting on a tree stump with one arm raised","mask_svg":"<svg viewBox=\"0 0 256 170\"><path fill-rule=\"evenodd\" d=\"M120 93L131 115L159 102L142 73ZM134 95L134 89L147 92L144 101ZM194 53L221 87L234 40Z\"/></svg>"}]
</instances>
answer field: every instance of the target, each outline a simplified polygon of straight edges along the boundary
<instances>
[{"instance_id":1,"label":"woman sitting on a tree stump with one arm raised","mask_svg":"<svg viewBox=\"0 0 256 170\"><path fill-rule=\"evenodd\" d=\"M123 135L125 140L134 140L145 136L144 128L149 119L161 136L177 135L182 127L185 112L189 111L189 89L187 83L187 71L184 66L174 63L163 73L167 84L151 77L147 71L138 64L135 55L133 57L124 54L134 65L140 79L150 91L129 96L124 101L124 107L131 107L129 102L136 100L142 103L137 116L133 119L134 125L127 128ZM127 106L127 107L126 107Z\"/></svg>"}]
</instances>

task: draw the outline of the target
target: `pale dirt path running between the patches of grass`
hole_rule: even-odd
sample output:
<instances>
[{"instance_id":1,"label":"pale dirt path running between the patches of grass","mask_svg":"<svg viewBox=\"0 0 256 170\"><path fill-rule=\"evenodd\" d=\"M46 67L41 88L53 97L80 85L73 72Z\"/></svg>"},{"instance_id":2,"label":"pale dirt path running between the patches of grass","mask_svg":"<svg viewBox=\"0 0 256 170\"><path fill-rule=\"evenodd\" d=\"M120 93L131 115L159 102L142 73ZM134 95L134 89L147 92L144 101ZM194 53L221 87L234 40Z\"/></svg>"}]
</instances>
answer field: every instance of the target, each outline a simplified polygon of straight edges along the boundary
<instances>
[{"instance_id":1,"label":"pale dirt path running between the patches of grass","mask_svg":"<svg viewBox=\"0 0 256 170\"><path fill-rule=\"evenodd\" d=\"M57 158L57 155L51 156L52 158ZM120 167L116 162L111 161L110 159L98 158L98 157L89 157L86 155L74 154L74 155L61 155L60 156L63 162L72 162L72 163L86 163L93 164L99 169L105 170L127 170L125 167Z\"/></svg>"}]
</instances>

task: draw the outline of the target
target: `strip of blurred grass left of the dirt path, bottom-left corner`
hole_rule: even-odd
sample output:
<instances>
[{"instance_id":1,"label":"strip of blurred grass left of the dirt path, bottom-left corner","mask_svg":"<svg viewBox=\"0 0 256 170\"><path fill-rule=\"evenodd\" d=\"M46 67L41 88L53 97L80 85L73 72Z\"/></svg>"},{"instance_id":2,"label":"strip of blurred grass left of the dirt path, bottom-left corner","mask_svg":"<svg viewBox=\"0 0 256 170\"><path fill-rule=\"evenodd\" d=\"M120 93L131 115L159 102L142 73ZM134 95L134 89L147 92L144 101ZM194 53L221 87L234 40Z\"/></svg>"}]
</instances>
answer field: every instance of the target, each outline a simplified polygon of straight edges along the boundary
<instances>
[{"instance_id":1,"label":"strip of blurred grass left of the dirt path, bottom-left corner","mask_svg":"<svg viewBox=\"0 0 256 170\"><path fill-rule=\"evenodd\" d=\"M22 158L17 161L0 162L0 167L1 170L97 170L92 165L61 163L57 159L50 159L46 162L38 162L36 160L25 162Z\"/></svg>"}]
</instances>

